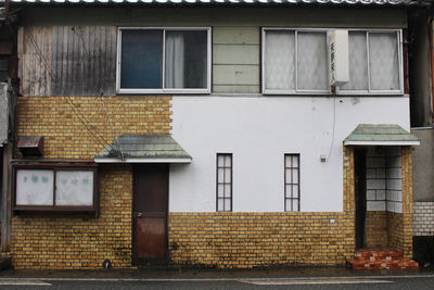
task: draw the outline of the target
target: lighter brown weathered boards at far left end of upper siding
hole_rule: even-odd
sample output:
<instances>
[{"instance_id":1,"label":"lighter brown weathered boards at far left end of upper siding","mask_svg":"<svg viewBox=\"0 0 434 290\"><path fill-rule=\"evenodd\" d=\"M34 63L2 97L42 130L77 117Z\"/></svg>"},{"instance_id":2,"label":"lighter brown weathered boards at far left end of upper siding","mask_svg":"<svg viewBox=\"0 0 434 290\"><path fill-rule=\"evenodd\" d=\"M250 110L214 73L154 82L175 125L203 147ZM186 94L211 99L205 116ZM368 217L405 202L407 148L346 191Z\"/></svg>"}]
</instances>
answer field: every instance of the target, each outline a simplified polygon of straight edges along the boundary
<instances>
[{"instance_id":1,"label":"lighter brown weathered boards at far left end of upper siding","mask_svg":"<svg viewBox=\"0 0 434 290\"><path fill-rule=\"evenodd\" d=\"M51 94L51 26L21 27L18 59L23 96Z\"/></svg>"}]
</instances>

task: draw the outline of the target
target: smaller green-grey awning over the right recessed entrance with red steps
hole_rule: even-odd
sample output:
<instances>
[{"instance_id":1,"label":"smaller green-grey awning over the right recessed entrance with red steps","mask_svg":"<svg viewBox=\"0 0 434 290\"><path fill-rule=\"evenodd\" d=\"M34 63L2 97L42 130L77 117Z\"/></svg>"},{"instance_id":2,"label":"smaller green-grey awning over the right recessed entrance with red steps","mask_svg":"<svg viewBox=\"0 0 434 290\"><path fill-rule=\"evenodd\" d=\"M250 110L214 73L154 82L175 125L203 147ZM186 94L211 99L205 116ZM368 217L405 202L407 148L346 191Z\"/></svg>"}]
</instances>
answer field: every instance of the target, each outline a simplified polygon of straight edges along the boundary
<instances>
[{"instance_id":1,"label":"smaller green-grey awning over the right recessed entrance with red steps","mask_svg":"<svg viewBox=\"0 0 434 290\"><path fill-rule=\"evenodd\" d=\"M420 140L395 124L360 124L344 146L419 146Z\"/></svg>"}]
</instances>

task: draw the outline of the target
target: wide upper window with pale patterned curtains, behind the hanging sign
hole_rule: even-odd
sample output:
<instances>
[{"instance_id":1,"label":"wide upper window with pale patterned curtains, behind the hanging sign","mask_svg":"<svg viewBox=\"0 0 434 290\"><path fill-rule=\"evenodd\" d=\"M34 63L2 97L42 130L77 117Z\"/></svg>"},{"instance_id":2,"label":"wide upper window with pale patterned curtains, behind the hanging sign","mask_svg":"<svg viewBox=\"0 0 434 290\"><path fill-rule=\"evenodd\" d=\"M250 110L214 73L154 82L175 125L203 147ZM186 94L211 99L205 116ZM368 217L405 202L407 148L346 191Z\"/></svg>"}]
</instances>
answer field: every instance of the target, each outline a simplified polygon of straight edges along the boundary
<instances>
[{"instance_id":1,"label":"wide upper window with pale patterned curtains, behind the hanging sign","mask_svg":"<svg viewBox=\"0 0 434 290\"><path fill-rule=\"evenodd\" d=\"M264 93L330 93L331 29L263 29ZM348 30L341 93L403 93L400 30Z\"/></svg>"}]
</instances>

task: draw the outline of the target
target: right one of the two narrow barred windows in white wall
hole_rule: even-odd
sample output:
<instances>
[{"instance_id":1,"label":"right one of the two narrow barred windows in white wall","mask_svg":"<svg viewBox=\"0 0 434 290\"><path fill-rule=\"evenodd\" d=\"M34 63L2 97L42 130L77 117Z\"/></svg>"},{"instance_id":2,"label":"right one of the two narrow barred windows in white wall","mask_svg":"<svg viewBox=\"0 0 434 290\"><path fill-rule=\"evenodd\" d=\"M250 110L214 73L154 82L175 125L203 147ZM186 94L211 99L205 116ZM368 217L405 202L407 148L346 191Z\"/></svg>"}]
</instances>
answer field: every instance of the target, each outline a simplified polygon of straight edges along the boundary
<instances>
[{"instance_id":1,"label":"right one of the two narrow barred windows in white wall","mask_svg":"<svg viewBox=\"0 0 434 290\"><path fill-rule=\"evenodd\" d=\"M284 155L285 212L299 212L299 154Z\"/></svg>"}]
</instances>

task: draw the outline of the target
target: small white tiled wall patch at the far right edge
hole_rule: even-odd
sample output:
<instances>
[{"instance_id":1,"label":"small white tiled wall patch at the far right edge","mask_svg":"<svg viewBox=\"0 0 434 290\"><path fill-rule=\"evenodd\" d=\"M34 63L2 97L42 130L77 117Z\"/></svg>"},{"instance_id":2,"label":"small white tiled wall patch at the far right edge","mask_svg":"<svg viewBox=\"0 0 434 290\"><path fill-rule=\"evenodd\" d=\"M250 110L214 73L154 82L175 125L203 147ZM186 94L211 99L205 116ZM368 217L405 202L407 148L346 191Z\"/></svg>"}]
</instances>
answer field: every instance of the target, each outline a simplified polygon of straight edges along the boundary
<instances>
[{"instance_id":1,"label":"small white tiled wall patch at the far right edge","mask_svg":"<svg viewBox=\"0 0 434 290\"><path fill-rule=\"evenodd\" d=\"M434 236L434 202L413 203L413 236Z\"/></svg>"}]
</instances>

